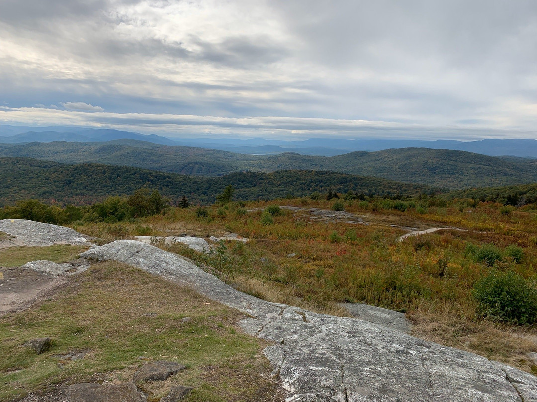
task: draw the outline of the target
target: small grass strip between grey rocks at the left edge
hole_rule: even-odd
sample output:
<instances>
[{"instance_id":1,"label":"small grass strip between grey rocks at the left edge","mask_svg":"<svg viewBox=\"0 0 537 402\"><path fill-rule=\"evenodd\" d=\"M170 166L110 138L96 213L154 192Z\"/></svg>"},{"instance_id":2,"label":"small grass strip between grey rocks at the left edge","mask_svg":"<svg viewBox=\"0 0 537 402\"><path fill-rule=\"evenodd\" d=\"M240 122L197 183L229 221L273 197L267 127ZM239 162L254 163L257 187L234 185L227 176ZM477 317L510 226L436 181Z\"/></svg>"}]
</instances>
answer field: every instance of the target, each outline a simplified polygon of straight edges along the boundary
<instances>
[{"instance_id":1,"label":"small grass strip between grey rocks at the left edge","mask_svg":"<svg viewBox=\"0 0 537 402\"><path fill-rule=\"evenodd\" d=\"M0 266L17 267L35 260L67 262L76 259L78 254L87 249L88 247L70 245L0 248Z\"/></svg>"}]
</instances>

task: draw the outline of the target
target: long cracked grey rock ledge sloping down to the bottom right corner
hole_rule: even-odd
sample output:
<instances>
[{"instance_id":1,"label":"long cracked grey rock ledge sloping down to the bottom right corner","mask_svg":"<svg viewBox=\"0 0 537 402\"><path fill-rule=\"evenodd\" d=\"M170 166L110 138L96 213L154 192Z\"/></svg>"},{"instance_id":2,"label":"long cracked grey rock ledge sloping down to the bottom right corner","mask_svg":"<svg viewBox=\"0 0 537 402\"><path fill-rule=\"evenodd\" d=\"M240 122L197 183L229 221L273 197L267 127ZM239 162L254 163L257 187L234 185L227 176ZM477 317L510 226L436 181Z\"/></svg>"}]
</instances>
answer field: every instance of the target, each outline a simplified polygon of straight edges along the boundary
<instances>
[{"instance_id":1,"label":"long cracked grey rock ledge sloping down to the bottom right corner","mask_svg":"<svg viewBox=\"0 0 537 402\"><path fill-rule=\"evenodd\" d=\"M191 285L249 317L288 401L537 401L537 378L458 349L368 321L315 314L239 292L190 260L132 240L83 253Z\"/></svg>"}]
</instances>

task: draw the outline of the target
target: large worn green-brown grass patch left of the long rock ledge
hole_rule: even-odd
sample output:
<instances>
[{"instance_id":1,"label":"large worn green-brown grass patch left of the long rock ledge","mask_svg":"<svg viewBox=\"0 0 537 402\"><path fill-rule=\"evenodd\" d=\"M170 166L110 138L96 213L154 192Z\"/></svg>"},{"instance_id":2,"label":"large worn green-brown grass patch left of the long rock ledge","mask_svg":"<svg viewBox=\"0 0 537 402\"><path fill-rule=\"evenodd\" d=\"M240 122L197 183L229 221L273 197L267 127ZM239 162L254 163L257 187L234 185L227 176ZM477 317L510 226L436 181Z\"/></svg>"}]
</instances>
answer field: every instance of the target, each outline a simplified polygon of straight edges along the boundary
<instances>
[{"instance_id":1,"label":"large worn green-brown grass patch left of the long rock ledge","mask_svg":"<svg viewBox=\"0 0 537 402\"><path fill-rule=\"evenodd\" d=\"M140 356L186 364L173 376L195 387L186 401L263 400L277 392L260 376L270 371L260 354L266 344L236 329L237 311L117 262L93 264L69 281L30 310L0 318L0 400L62 382L129 379ZM46 353L23 347L45 336L53 339ZM81 350L89 351L81 360L58 356ZM162 386L142 388L154 398Z\"/></svg>"}]
</instances>

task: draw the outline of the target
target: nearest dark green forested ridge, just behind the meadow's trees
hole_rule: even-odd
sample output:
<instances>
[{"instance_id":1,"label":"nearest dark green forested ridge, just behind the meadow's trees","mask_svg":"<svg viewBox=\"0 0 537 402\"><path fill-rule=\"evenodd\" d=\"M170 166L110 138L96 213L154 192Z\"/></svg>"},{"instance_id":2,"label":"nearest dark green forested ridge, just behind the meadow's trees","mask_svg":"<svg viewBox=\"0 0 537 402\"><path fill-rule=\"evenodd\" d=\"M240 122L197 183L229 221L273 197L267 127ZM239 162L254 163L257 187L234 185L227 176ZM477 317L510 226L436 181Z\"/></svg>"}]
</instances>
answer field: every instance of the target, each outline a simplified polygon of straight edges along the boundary
<instances>
[{"instance_id":1,"label":"nearest dark green forested ridge, just behind the meadow's trees","mask_svg":"<svg viewBox=\"0 0 537 402\"><path fill-rule=\"evenodd\" d=\"M364 192L366 195L416 195L429 186L399 183L330 171L280 170L272 173L236 172L220 177L186 176L154 170L105 164L62 164L29 158L0 158L0 206L37 198L45 202L94 203L111 195L133 193L147 187L178 202L214 203L227 185L237 199L272 199L311 192Z\"/></svg>"}]
</instances>

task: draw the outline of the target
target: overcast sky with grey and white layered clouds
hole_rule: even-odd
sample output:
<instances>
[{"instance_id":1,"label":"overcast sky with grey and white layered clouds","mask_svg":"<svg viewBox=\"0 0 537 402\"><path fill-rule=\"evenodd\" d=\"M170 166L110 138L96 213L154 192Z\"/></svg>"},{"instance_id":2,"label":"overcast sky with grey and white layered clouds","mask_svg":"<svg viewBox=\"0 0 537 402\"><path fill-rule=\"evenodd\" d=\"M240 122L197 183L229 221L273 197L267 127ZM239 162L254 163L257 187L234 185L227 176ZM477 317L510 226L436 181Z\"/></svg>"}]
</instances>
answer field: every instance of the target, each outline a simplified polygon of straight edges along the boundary
<instances>
[{"instance_id":1,"label":"overcast sky with grey and white layered clouds","mask_svg":"<svg viewBox=\"0 0 537 402\"><path fill-rule=\"evenodd\" d=\"M0 0L0 124L537 139L537 1Z\"/></svg>"}]
</instances>

